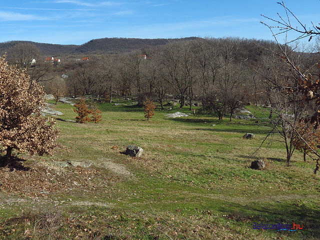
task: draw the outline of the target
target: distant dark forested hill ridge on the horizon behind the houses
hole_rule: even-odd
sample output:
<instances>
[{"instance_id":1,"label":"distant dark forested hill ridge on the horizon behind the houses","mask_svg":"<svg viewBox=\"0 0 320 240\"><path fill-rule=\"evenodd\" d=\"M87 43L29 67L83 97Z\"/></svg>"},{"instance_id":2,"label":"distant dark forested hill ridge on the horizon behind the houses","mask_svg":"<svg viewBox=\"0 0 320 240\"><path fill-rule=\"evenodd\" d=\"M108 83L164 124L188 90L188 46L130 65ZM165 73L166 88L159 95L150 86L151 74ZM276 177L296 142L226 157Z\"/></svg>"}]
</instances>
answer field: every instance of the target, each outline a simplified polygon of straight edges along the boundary
<instances>
[{"instance_id":1,"label":"distant dark forested hill ridge on the horizon behind the houses","mask_svg":"<svg viewBox=\"0 0 320 240\"><path fill-rule=\"evenodd\" d=\"M149 48L157 45L164 45L168 42L179 40L192 40L197 37L185 37L185 38L156 38L156 39L142 39L142 38L99 38L92 39L81 45L61 45L61 44L49 44L39 43L32 41L7 41L0 43L0 53L3 54L10 47L18 43L32 43L44 54L44 55L61 55L72 53L87 53L87 52L127 52L134 49Z\"/></svg>"}]
</instances>

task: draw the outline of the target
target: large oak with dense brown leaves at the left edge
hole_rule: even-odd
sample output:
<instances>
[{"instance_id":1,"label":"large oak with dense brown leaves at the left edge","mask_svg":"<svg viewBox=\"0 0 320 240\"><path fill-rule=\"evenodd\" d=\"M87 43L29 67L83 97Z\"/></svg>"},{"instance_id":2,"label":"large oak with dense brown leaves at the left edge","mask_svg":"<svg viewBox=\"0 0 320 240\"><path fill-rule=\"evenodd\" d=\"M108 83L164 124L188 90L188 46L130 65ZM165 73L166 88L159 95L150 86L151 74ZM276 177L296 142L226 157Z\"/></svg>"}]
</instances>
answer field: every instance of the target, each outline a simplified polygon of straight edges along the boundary
<instances>
[{"instance_id":1,"label":"large oak with dense brown leaves at the left edge","mask_svg":"<svg viewBox=\"0 0 320 240\"><path fill-rule=\"evenodd\" d=\"M11 161L12 150L29 154L50 154L59 130L53 119L41 117L43 88L31 82L25 70L9 66L0 57L0 151L6 151L0 164Z\"/></svg>"}]
</instances>

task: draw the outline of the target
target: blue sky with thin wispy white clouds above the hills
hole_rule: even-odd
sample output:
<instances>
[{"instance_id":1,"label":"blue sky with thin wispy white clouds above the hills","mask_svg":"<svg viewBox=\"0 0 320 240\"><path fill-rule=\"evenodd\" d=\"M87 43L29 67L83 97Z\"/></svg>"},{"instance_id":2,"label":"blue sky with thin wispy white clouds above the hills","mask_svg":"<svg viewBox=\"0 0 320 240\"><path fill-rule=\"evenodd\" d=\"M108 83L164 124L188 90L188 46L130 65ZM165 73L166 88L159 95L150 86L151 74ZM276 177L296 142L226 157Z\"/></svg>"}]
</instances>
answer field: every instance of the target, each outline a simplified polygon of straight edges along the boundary
<instances>
[{"instance_id":1,"label":"blue sky with thin wispy white clouds above the hills","mask_svg":"<svg viewBox=\"0 0 320 240\"><path fill-rule=\"evenodd\" d=\"M102 37L187 36L272 39L260 14L283 13L277 1L0 0L0 42L82 44ZM305 24L320 22L320 0L285 3Z\"/></svg>"}]
</instances>

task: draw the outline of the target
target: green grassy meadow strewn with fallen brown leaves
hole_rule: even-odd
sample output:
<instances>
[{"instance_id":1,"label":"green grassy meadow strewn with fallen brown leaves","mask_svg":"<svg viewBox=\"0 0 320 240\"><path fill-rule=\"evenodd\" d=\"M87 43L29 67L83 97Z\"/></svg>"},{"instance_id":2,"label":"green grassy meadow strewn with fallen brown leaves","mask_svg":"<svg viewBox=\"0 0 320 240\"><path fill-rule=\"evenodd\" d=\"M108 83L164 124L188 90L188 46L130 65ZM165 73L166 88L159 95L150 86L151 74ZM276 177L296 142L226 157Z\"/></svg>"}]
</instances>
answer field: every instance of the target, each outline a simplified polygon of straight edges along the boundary
<instances>
[{"instance_id":1,"label":"green grassy meadow strewn with fallen brown leaves","mask_svg":"<svg viewBox=\"0 0 320 240\"><path fill-rule=\"evenodd\" d=\"M99 123L57 120L52 156L18 155L0 169L0 239L320 239L315 162L266 136L266 120L211 115L149 121L131 101L98 104ZM73 106L54 108L74 119ZM263 116L254 106L247 106ZM254 139L243 139L246 132ZM134 158L129 144L144 149ZM251 161L266 162L262 170ZM66 162L92 162L89 167ZM67 166L62 166L63 163ZM296 231L252 229L253 222L303 224Z\"/></svg>"}]
</instances>

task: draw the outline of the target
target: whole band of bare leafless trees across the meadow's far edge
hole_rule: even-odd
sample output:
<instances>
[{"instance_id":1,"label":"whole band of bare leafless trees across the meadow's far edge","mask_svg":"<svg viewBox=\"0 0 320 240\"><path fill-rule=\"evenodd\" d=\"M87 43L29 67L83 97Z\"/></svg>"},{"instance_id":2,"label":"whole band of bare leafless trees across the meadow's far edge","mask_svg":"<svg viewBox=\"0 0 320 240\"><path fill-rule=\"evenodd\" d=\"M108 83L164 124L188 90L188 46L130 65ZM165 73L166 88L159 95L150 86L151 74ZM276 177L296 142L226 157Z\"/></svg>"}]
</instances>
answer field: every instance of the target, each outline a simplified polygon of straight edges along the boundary
<instances>
[{"instance_id":1,"label":"whole band of bare leafless trees across the meadow's far edge","mask_svg":"<svg viewBox=\"0 0 320 240\"><path fill-rule=\"evenodd\" d=\"M47 92L60 87L65 95L95 95L109 102L114 96L135 95L138 104L150 98L162 109L165 99L175 98L180 107L201 104L204 113L219 119L228 113L231 120L243 104L273 104L269 84L288 74L274 56L277 51L278 46L266 40L192 38L54 64L43 60L31 64L40 51L32 44L19 44L9 49L7 59L26 68L31 80L42 81ZM288 51L296 55L301 69L315 63L316 54Z\"/></svg>"}]
</instances>

